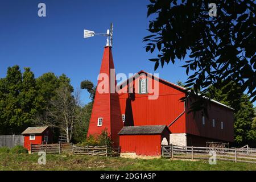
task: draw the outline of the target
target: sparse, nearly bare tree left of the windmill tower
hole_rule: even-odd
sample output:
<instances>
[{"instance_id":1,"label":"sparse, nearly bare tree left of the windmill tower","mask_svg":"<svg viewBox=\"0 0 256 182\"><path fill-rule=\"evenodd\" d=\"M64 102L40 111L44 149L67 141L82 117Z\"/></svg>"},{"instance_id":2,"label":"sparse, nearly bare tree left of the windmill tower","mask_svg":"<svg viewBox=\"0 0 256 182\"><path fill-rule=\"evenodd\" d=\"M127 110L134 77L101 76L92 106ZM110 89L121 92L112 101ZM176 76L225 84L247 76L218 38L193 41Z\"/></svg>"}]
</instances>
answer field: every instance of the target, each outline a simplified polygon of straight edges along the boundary
<instances>
[{"instance_id":1,"label":"sparse, nearly bare tree left of the windmill tower","mask_svg":"<svg viewBox=\"0 0 256 182\"><path fill-rule=\"evenodd\" d=\"M56 96L47 105L44 115L38 115L36 122L41 125L59 128L67 136L69 143L76 123L81 121L80 93L72 95L71 87L62 84Z\"/></svg>"}]
</instances>

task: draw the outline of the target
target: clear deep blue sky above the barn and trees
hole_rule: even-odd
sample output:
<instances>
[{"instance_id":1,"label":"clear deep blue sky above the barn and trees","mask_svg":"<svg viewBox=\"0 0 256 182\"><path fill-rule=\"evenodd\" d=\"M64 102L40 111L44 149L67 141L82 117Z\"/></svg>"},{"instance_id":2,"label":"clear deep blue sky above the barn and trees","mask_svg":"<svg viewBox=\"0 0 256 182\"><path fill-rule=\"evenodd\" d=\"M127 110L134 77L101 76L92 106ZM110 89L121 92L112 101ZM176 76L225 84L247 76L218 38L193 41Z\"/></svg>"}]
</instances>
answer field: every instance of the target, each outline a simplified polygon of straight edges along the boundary
<instances>
[{"instance_id":1,"label":"clear deep blue sky above the barn and trees","mask_svg":"<svg viewBox=\"0 0 256 182\"><path fill-rule=\"evenodd\" d=\"M38 16L38 4L46 4L46 17ZM154 54L143 48L148 35L148 0L85 1L85 0L8 0L0 1L0 77L7 67L30 67L35 77L53 72L65 73L73 87L82 80L97 84L106 38L84 39L83 31L106 32L110 22L113 30L113 57L117 73L154 73ZM177 61L159 68L159 77L176 82L185 81L185 69ZM89 94L82 91L82 102Z\"/></svg>"}]
</instances>

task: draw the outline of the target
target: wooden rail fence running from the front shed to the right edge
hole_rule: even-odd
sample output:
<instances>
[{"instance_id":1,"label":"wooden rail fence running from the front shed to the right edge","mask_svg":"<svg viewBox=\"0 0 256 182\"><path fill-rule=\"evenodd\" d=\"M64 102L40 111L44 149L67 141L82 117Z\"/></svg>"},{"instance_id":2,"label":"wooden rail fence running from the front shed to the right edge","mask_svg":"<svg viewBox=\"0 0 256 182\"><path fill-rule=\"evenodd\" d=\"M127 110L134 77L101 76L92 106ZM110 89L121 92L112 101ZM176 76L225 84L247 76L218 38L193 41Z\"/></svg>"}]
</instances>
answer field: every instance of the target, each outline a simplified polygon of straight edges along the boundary
<instances>
[{"instance_id":1,"label":"wooden rail fence running from the front shed to the right edge","mask_svg":"<svg viewBox=\"0 0 256 182\"><path fill-rule=\"evenodd\" d=\"M211 148L187 146L162 146L162 156L181 159L209 159L209 152L216 152L217 160L230 160L234 162L256 163L256 150L240 148Z\"/></svg>"}]
</instances>

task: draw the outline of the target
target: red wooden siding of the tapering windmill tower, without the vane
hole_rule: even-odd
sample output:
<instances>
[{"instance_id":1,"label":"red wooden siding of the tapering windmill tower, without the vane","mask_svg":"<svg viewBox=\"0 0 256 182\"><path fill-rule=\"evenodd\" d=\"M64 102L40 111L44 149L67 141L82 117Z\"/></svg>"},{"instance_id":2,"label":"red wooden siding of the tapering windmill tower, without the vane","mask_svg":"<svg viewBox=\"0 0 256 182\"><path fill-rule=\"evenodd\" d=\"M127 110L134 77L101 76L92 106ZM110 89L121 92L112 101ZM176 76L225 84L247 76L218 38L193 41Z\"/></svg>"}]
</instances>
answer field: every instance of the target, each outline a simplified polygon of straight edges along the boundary
<instances>
[{"instance_id":1,"label":"red wooden siding of the tapering windmill tower, without the vane","mask_svg":"<svg viewBox=\"0 0 256 182\"><path fill-rule=\"evenodd\" d=\"M110 69L114 69L112 51L111 47L105 47L100 73L105 73L110 78ZM102 81L104 80L99 80L97 85ZM123 126L119 97L117 93L110 94L109 86L106 90L108 90L108 93L99 93L98 89L96 91L87 135L100 134L106 129L114 144L118 145L119 138L117 134ZM102 126L97 126L98 118L102 118Z\"/></svg>"}]
</instances>

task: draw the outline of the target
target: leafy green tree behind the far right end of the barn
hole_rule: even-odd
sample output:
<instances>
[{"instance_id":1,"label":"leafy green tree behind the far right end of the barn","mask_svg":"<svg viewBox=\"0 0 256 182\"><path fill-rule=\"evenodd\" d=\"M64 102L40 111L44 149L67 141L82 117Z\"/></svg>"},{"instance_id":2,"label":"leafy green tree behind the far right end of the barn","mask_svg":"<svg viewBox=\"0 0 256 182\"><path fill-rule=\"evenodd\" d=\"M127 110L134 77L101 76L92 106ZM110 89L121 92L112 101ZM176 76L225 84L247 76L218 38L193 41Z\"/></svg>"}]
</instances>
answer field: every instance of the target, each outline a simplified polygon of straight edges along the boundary
<instances>
[{"instance_id":1,"label":"leafy green tree behind the far right end of the barn","mask_svg":"<svg viewBox=\"0 0 256 182\"><path fill-rule=\"evenodd\" d=\"M237 146L255 147L256 128L253 127L255 110L249 96L242 93L241 86L235 82L230 82L224 88L216 89L210 87L216 94L214 100L234 108L234 137ZM234 100L230 97L236 94Z\"/></svg>"}]
</instances>

